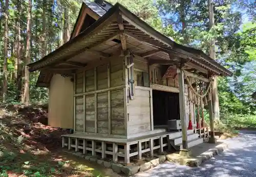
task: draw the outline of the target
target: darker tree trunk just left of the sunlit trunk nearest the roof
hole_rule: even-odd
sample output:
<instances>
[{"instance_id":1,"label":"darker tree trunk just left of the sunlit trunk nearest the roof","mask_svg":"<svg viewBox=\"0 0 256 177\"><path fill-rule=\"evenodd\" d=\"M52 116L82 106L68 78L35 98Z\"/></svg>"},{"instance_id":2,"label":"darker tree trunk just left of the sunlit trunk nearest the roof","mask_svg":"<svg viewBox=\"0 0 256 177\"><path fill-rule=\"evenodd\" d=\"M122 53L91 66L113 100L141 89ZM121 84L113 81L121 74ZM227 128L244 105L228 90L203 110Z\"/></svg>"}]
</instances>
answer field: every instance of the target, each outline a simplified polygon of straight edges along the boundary
<instances>
[{"instance_id":1,"label":"darker tree trunk just left of the sunlit trunk nearest the roof","mask_svg":"<svg viewBox=\"0 0 256 177\"><path fill-rule=\"evenodd\" d=\"M18 10L18 19L17 19L17 77L16 77L16 100L20 100L21 93L22 93L22 37L21 37L21 30L20 30L20 5L21 3L17 2L17 10Z\"/></svg>"}]
</instances>

